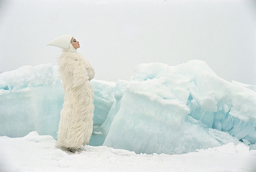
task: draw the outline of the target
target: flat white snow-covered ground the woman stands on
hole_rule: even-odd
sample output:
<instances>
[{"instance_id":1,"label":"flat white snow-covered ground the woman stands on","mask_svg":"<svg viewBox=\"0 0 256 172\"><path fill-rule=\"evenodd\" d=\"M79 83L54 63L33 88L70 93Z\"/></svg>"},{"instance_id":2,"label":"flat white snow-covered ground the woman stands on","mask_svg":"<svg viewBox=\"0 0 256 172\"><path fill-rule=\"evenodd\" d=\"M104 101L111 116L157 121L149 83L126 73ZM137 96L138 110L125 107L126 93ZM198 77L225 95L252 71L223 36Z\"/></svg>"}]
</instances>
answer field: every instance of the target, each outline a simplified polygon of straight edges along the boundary
<instances>
[{"instance_id":1,"label":"flat white snow-covered ground the woman stands on","mask_svg":"<svg viewBox=\"0 0 256 172\"><path fill-rule=\"evenodd\" d=\"M70 153L55 148L52 136L31 132L25 137L0 137L0 171L255 171L256 150L243 143L197 150L182 155L135 154L105 146Z\"/></svg>"}]
</instances>

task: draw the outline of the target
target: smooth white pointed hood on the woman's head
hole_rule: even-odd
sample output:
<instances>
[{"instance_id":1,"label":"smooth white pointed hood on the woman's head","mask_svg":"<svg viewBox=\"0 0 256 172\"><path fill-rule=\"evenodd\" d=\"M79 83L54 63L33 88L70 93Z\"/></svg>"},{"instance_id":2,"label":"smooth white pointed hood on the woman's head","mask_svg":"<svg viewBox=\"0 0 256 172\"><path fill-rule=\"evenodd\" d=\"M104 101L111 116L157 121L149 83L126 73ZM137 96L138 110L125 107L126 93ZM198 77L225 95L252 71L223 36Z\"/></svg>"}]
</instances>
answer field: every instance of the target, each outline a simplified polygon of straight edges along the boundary
<instances>
[{"instance_id":1,"label":"smooth white pointed hood on the woman's head","mask_svg":"<svg viewBox=\"0 0 256 172\"><path fill-rule=\"evenodd\" d=\"M52 42L50 42L47 45L52 45L55 47L62 48L63 50L70 50L70 51L76 52L76 49L70 43L72 38L73 38L72 35L63 35L54 39Z\"/></svg>"}]
</instances>

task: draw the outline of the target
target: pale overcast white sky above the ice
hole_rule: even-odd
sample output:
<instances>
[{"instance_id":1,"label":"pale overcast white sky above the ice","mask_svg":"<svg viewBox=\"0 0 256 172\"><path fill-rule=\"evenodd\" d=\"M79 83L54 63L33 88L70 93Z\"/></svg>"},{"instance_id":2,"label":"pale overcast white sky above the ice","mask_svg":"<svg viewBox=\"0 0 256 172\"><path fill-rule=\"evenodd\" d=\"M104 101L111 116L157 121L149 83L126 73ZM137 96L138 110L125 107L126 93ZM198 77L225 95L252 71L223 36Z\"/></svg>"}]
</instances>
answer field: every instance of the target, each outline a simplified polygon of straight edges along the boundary
<instances>
[{"instance_id":1,"label":"pale overcast white sky above the ice","mask_svg":"<svg viewBox=\"0 0 256 172\"><path fill-rule=\"evenodd\" d=\"M0 0L0 72L52 63L73 35L95 79L129 80L137 64L205 61L256 85L255 0Z\"/></svg>"}]
</instances>

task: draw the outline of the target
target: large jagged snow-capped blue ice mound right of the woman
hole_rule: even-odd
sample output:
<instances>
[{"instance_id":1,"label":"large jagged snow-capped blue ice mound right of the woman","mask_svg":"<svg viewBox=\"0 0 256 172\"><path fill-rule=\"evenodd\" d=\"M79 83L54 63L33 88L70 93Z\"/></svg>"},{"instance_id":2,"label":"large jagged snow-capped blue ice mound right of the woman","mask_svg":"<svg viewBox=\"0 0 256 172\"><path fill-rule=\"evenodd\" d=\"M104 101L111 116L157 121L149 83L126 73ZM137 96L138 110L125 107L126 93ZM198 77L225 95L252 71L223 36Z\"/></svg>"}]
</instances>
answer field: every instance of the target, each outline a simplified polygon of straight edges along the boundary
<instances>
[{"instance_id":1,"label":"large jagged snow-capped blue ice mound right of the woman","mask_svg":"<svg viewBox=\"0 0 256 172\"><path fill-rule=\"evenodd\" d=\"M140 64L135 72L103 145L182 154L240 139L255 143L255 92L223 80L205 62Z\"/></svg>"}]
</instances>

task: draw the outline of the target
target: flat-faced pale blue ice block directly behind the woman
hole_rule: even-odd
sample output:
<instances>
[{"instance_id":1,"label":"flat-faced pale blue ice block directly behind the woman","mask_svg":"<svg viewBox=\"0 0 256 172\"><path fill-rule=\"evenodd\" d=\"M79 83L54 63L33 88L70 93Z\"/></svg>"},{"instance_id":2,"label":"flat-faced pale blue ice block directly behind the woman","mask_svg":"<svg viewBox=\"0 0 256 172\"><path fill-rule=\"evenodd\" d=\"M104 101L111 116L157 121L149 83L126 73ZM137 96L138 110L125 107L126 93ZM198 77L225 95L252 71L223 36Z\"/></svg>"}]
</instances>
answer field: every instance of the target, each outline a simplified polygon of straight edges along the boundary
<instances>
[{"instance_id":1,"label":"flat-faced pale blue ice block directly behind the woman","mask_svg":"<svg viewBox=\"0 0 256 172\"><path fill-rule=\"evenodd\" d=\"M91 82L94 124L101 125L115 99L115 82ZM23 137L37 131L56 139L63 98L57 66L23 66L0 74L0 136Z\"/></svg>"}]
</instances>

